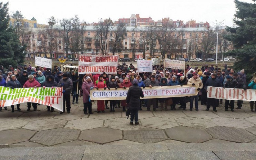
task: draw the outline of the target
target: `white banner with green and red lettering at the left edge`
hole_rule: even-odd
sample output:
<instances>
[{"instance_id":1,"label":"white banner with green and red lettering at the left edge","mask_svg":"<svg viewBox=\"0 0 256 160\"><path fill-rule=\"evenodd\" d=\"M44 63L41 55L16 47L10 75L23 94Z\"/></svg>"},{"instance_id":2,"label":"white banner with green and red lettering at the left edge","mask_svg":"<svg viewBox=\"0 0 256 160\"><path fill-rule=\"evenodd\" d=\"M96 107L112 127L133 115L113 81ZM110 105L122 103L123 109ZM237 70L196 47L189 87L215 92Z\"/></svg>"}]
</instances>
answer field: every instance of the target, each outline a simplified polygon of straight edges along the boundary
<instances>
[{"instance_id":1,"label":"white banner with green and red lettering at the left edge","mask_svg":"<svg viewBox=\"0 0 256 160\"><path fill-rule=\"evenodd\" d=\"M12 89L0 86L0 107L25 102L40 103L63 111L62 87Z\"/></svg>"}]
</instances>

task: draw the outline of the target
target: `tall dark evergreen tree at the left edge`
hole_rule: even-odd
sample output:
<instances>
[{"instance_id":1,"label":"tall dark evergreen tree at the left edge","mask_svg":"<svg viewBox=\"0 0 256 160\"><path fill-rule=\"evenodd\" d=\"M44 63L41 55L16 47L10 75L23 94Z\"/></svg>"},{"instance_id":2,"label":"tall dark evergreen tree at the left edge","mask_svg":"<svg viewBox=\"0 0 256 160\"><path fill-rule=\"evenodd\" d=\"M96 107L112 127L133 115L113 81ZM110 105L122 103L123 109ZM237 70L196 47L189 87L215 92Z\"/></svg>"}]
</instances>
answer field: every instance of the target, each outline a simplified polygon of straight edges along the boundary
<instances>
[{"instance_id":1,"label":"tall dark evergreen tree at the left edge","mask_svg":"<svg viewBox=\"0 0 256 160\"><path fill-rule=\"evenodd\" d=\"M0 65L16 67L24 62L25 47L21 46L19 37L9 28L8 3L0 2Z\"/></svg>"}]
</instances>

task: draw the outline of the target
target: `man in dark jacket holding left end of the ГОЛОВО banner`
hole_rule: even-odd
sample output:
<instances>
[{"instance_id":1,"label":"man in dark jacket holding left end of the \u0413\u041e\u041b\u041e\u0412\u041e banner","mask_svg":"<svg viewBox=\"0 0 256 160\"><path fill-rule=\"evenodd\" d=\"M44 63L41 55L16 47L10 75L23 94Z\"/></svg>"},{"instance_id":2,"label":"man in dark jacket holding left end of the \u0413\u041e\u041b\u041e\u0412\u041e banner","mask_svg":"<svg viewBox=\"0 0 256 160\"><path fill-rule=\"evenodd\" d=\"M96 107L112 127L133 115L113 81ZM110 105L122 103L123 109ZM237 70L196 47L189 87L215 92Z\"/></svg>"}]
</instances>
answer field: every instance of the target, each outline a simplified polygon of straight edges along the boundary
<instances>
[{"instance_id":1,"label":"man in dark jacket holding left end of the \u0413\u041e\u041b\u041e\u0412\u041e banner","mask_svg":"<svg viewBox=\"0 0 256 160\"><path fill-rule=\"evenodd\" d=\"M213 73L211 75L211 78L207 79L206 81L206 84L205 84L205 87L204 89L207 91L207 87L208 86L211 86L211 87L221 87L222 84L221 84L221 80L219 80L217 77L217 74L216 73ZM217 107L217 104L218 104L218 101L219 99L215 99L215 98L207 98L207 105L206 105L206 110L205 111L209 111L210 110L210 107L213 106L213 111L217 112L216 110L216 107Z\"/></svg>"}]
</instances>

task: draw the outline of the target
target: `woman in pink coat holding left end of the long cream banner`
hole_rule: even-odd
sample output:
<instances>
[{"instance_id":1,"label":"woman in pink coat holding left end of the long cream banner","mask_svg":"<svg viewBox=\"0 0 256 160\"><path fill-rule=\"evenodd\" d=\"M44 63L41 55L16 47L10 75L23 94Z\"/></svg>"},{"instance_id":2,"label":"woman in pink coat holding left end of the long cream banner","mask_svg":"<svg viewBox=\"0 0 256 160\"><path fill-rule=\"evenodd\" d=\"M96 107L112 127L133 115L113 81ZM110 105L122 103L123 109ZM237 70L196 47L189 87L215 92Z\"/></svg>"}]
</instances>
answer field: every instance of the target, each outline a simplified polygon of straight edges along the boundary
<instances>
[{"instance_id":1,"label":"woman in pink coat holding left end of the long cream banner","mask_svg":"<svg viewBox=\"0 0 256 160\"><path fill-rule=\"evenodd\" d=\"M92 90L94 88L92 79L90 76L84 76L83 77L83 83L82 83L82 88L80 90L80 93L82 92L83 95L83 105L84 105L84 114L87 115L87 109L89 114L93 114L92 113L92 102L90 99L90 90ZM81 94L80 94L81 97Z\"/></svg>"}]
</instances>

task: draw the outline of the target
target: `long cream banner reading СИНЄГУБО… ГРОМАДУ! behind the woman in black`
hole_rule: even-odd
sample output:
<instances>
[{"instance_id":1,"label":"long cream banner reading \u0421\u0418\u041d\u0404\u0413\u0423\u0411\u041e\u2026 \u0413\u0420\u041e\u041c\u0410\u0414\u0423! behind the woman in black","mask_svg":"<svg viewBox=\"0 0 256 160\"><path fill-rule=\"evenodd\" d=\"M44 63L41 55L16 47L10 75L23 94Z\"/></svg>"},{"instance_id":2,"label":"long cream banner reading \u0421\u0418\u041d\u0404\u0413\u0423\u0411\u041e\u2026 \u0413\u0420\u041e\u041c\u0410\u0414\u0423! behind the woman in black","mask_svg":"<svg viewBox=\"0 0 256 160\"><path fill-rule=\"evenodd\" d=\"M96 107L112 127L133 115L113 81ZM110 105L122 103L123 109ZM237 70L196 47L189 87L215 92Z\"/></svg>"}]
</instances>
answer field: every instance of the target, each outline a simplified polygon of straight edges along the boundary
<instances>
[{"instance_id":1,"label":"long cream banner reading \u0421\u0418\u041d\u0404\u0413\u0423\u0411\u041e\u2026 \u0413\u0420\u041e\u041c\u0410\u0414\u0423! behind the woman in black","mask_svg":"<svg viewBox=\"0 0 256 160\"><path fill-rule=\"evenodd\" d=\"M144 98L168 98L168 97L185 97L185 96L195 96L198 94L197 86L183 85L181 86L164 86L164 87L146 87L142 89ZM127 97L127 92L129 88L122 89L114 88L108 90L104 89L93 89L90 91L91 100L124 100Z\"/></svg>"}]
</instances>

